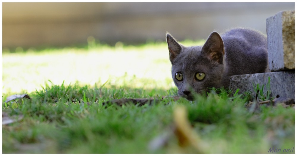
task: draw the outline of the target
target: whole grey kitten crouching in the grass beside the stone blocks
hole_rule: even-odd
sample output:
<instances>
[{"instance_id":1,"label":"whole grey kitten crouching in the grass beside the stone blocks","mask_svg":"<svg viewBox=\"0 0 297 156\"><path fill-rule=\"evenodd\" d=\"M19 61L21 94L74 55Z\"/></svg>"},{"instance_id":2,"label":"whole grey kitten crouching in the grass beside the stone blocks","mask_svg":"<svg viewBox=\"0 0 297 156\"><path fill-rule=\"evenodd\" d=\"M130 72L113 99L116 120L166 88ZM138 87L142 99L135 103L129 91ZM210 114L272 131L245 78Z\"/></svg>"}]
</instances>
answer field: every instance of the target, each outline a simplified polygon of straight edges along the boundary
<instances>
[{"instance_id":1,"label":"whole grey kitten crouching in the grass beside the stone blocks","mask_svg":"<svg viewBox=\"0 0 297 156\"><path fill-rule=\"evenodd\" d=\"M178 95L194 100L193 92L229 86L231 75L269 72L267 39L251 29L212 32L203 46L185 47L166 34L172 78Z\"/></svg>"}]
</instances>

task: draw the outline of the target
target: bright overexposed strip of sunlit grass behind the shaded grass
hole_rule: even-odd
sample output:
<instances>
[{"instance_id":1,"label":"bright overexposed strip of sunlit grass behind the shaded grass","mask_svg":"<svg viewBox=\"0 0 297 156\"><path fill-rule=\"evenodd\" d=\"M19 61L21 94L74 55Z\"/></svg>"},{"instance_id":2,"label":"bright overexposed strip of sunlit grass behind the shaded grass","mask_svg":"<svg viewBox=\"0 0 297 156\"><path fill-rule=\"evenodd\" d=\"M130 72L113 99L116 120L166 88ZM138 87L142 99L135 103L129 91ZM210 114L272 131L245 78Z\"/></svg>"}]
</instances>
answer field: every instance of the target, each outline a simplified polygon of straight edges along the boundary
<instances>
[{"instance_id":1,"label":"bright overexposed strip of sunlit grass behind the shaded grass","mask_svg":"<svg viewBox=\"0 0 297 156\"><path fill-rule=\"evenodd\" d=\"M201 41L184 43L197 45ZM139 46L118 44L114 47L91 44L86 48L3 53L2 69L3 93L32 92L48 80L54 84L65 81L66 84L91 85L109 80L120 86L118 78L123 76L131 77L133 80L128 83L135 87L141 86L137 83L141 79L159 82L158 86L147 85L150 88L168 89L173 86L169 84L171 64L165 42Z\"/></svg>"}]
</instances>

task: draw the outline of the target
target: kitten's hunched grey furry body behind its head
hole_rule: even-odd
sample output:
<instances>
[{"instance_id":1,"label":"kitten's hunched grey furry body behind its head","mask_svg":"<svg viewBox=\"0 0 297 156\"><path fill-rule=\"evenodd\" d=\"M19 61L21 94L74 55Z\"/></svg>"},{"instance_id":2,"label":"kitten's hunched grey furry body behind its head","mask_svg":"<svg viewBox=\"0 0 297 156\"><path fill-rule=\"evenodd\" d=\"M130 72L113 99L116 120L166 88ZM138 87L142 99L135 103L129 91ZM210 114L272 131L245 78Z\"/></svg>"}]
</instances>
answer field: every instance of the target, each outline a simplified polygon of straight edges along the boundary
<instances>
[{"instance_id":1,"label":"kitten's hunched grey furry body behind its head","mask_svg":"<svg viewBox=\"0 0 297 156\"><path fill-rule=\"evenodd\" d=\"M264 34L238 28L227 31L221 37L225 48L225 76L269 71L267 39Z\"/></svg>"}]
</instances>

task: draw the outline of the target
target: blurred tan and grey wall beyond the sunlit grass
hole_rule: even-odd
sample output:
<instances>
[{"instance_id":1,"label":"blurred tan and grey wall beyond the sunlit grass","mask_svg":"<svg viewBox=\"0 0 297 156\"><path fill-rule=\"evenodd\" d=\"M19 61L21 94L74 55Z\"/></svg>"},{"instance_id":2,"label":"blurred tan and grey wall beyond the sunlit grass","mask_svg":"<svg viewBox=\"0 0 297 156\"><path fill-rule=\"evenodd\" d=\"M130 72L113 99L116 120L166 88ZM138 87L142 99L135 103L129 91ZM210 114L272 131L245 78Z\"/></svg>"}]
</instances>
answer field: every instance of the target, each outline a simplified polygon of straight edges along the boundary
<instances>
[{"instance_id":1,"label":"blurred tan and grey wall beyond the sunlit grass","mask_svg":"<svg viewBox=\"0 0 297 156\"><path fill-rule=\"evenodd\" d=\"M266 34L266 18L294 2L3 2L2 48L114 45L206 39L211 31L250 27Z\"/></svg>"}]
</instances>

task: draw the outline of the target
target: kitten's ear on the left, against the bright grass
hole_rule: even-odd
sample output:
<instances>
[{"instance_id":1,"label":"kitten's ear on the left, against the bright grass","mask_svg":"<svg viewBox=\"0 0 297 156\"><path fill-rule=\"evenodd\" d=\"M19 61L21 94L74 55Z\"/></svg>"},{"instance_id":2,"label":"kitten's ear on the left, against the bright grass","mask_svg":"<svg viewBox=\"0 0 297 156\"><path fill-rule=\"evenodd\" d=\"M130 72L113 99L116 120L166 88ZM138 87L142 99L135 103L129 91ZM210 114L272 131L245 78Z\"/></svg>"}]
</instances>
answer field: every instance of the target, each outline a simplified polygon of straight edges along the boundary
<instances>
[{"instance_id":1,"label":"kitten's ear on the left, against the bright grass","mask_svg":"<svg viewBox=\"0 0 297 156\"><path fill-rule=\"evenodd\" d=\"M181 52L182 46L169 33L166 34L166 41L169 50L169 60L173 64L174 59Z\"/></svg>"}]
</instances>

